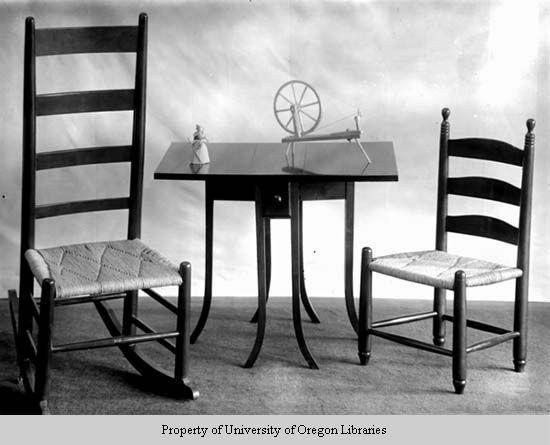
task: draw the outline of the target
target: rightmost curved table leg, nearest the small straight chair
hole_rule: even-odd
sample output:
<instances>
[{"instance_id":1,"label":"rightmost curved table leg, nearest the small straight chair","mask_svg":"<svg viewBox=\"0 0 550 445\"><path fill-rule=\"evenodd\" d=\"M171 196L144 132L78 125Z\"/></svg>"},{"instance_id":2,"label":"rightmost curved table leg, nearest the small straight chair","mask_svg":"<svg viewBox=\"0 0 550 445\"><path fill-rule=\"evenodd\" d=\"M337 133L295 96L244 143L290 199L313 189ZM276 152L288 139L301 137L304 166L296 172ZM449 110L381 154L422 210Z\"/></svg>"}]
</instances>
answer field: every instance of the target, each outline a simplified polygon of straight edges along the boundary
<instances>
[{"instance_id":1,"label":"rightmost curved table leg, nearest the small straight chair","mask_svg":"<svg viewBox=\"0 0 550 445\"><path fill-rule=\"evenodd\" d=\"M344 244L344 293L346 310L351 326L358 331L358 319L353 299L353 220L354 220L355 183L346 182L345 198L345 244Z\"/></svg>"}]
</instances>

